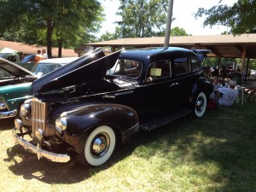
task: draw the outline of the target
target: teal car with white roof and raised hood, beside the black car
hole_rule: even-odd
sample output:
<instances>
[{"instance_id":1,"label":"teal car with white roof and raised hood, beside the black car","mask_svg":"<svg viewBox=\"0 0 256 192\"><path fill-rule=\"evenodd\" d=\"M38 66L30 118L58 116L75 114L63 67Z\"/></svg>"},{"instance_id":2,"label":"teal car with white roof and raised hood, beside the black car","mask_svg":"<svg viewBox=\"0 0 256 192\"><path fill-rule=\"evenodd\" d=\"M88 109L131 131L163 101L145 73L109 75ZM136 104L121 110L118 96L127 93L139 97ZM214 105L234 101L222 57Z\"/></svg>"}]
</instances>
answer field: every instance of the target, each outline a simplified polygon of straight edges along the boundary
<instances>
[{"instance_id":1,"label":"teal car with white roof and raised hood, beside the black car","mask_svg":"<svg viewBox=\"0 0 256 192\"><path fill-rule=\"evenodd\" d=\"M33 68L33 73L0 58L0 119L19 116L20 105L32 97L31 84L35 79L78 58L44 60Z\"/></svg>"}]
</instances>

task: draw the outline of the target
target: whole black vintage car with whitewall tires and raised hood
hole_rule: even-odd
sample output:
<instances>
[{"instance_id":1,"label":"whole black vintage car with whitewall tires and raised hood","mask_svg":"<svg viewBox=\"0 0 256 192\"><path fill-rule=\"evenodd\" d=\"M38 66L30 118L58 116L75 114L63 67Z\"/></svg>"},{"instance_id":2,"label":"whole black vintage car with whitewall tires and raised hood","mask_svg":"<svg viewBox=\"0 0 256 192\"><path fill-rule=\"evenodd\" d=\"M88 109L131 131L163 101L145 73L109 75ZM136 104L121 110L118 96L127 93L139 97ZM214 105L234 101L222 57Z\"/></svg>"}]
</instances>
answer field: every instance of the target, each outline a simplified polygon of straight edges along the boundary
<instances>
[{"instance_id":1,"label":"whole black vintage car with whitewall tires and raised hood","mask_svg":"<svg viewBox=\"0 0 256 192\"><path fill-rule=\"evenodd\" d=\"M201 61L208 52L148 48L105 56L96 49L32 83L15 141L38 159L67 162L75 152L82 164L101 166L137 131L205 113L212 84Z\"/></svg>"}]
</instances>

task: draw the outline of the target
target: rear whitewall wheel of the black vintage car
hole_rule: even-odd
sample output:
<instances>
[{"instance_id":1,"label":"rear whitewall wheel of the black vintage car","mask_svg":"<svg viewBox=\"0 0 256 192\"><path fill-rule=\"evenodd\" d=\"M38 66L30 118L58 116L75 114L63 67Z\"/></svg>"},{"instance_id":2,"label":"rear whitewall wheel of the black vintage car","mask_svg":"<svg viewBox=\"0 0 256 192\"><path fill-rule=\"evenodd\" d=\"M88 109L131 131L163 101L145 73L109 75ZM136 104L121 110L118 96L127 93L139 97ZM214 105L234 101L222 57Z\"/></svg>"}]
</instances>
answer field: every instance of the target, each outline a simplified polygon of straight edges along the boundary
<instances>
[{"instance_id":1,"label":"rear whitewall wheel of the black vintage car","mask_svg":"<svg viewBox=\"0 0 256 192\"><path fill-rule=\"evenodd\" d=\"M195 117L200 118L207 109L207 96L204 92L200 92L195 99Z\"/></svg>"}]
</instances>

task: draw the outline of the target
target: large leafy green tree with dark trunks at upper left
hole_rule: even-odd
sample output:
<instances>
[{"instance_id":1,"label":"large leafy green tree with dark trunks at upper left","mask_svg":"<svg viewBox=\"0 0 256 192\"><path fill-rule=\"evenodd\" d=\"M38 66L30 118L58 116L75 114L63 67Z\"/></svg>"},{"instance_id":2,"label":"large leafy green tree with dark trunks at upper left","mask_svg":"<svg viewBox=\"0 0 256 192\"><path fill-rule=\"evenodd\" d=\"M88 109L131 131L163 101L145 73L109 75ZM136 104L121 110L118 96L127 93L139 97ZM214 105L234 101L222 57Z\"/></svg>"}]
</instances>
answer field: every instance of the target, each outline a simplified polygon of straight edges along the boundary
<instances>
[{"instance_id":1,"label":"large leafy green tree with dark trunks at upper left","mask_svg":"<svg viewBox=\"0 0 256 192\"><path fill-rule=\"evenodd\" d=\"M97 0L0 0L0 35L21 39L26 44L76 46L97 32L102 6ZM89 41L89 38L85 38Z\"/></svg>"}]
</instances>

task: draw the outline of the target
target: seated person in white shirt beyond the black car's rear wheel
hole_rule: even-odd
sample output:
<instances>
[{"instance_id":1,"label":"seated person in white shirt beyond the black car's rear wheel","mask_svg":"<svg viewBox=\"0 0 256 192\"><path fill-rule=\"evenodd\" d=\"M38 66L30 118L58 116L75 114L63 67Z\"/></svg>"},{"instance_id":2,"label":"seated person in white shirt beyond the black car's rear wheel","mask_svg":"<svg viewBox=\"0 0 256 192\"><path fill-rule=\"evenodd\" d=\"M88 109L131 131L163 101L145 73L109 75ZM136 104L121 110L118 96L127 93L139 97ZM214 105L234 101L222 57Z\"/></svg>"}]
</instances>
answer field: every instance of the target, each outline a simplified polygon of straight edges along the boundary
<instances>
[{"instance_id":1,"label":"seated person in white shirt beyond the black car's rear wheel","mask_svg":"<svg viewBox=\"0 0 256 192\"><path fill-rule=\"evenodd\" d=\"M235 90L236 81L230 80L229 84L229 87L221 87L216 90L219 95L219 106L230 107L236 100L236 96L238 95L238 91Z\"/></svg>"}]
</instances>

